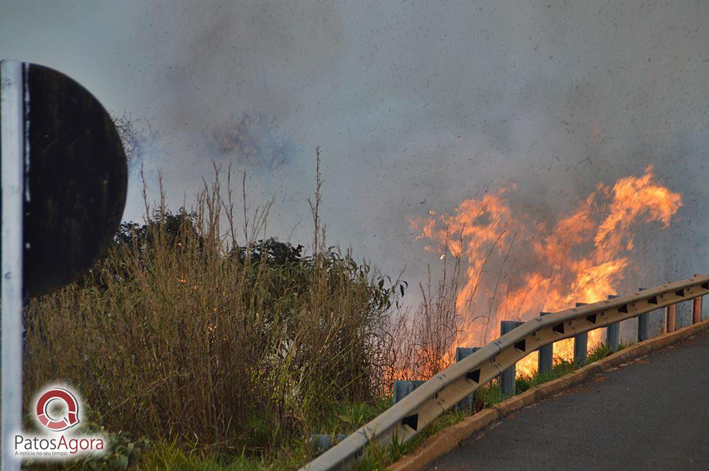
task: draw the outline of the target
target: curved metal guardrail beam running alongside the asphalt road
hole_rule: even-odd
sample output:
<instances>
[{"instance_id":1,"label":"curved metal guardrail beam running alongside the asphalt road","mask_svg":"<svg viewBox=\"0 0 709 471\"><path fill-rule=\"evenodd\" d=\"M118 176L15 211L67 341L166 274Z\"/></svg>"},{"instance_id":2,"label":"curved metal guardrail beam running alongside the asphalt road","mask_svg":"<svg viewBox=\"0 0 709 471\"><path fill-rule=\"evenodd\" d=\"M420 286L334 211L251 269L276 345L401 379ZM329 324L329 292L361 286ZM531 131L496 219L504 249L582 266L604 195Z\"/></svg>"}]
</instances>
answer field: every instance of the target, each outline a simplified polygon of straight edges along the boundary
<instances>
[{"instance_id":1,"label":"curved metal guardrail beam running alongside the asphalt road","mask_svg":"<svg viewBox=\"0 0 709 471\"><path fill-rule=\"evenodd\" d=\"M535 317L441 371L368 424L304 466L301 471L339 470L364 455L369 443L404 443L481 385L542 346L607 327L661 307L709 294L709 275L648 288L613 299ZM700 302L696 302L700 306ZM696 309L693 321L697 321Z\"/></svg>"}]
</instances>

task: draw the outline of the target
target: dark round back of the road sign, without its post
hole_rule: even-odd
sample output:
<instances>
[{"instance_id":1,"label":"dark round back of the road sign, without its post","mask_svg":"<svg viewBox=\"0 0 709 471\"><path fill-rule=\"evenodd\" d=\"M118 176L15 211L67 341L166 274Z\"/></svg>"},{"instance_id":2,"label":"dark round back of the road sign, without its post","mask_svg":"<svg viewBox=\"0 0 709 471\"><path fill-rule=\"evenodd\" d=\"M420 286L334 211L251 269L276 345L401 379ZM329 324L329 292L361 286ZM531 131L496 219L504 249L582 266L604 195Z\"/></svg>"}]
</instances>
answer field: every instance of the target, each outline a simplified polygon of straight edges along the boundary
<instances>
[{"instance_id":1,"label":"dark round back of the road sign, without its post","mask_svg":"<svg viewBox=\"0 0 709 471\"><path fill-rule=\"evenodd\" d=\"M68 76L23 64L26 161L23 293L79 278L111 242L128 169L110 115Z\"/></svg>"}]
</instances>

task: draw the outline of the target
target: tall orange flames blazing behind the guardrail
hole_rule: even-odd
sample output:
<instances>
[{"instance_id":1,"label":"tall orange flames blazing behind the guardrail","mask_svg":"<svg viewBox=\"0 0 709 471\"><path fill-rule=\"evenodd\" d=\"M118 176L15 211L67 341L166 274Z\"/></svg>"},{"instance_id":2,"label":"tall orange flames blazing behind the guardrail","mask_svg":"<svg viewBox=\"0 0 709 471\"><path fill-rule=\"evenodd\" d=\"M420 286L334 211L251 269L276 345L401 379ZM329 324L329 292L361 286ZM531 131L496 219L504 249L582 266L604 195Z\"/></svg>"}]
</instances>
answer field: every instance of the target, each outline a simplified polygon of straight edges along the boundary
<instances>
[{"instance_id":1,"label":"tall orange flames blazing behind the guardrail","mask_svg":"<svg viewBox=\"0 0 709 471\"><path fill-rule=\"evenodd\" d=\"M630 266L634 229L640 223L669 226L681 195L657 183L652 166L640 177L599 184L569 215L535 221L513 208L507 195L515 186L479 199L464 200L452 215L429 213L412 226L433 244L465 262L456 307L464 322L457 346L479 346L498 336L501 320L526 320L539 312L596 302L615 294ZM592 331L591 344L601 332ZM572 356L571 341L558 342L554 355ZM532 358L533 357L533 358ZM536 356L520 362L530 373Z\"/></svg>"}]
</instances>

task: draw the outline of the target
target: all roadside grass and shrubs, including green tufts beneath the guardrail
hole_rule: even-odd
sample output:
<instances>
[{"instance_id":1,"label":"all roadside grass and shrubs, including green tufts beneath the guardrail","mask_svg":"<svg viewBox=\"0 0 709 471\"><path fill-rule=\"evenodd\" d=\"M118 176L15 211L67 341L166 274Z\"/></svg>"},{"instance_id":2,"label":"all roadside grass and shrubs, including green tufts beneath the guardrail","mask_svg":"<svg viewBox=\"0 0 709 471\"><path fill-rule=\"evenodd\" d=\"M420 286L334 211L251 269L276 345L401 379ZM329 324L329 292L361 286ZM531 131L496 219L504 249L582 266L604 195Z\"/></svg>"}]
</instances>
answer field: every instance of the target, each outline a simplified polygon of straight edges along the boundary
<instances>
[{"instance_id":1,"label":"all roadside grass and shrubs, including green tufts beneath the guardrail","mask_svg":"<svg viewBox=\"0 0 709 471\"><path fill-rule=\"evenodd\" d=\"M82 422L110 436L102 458L40 469L294 470L314 458L314 433L351 433L391 405L398 379L450 364L459 334L459 261L423 301L403 310L408 285L328 246L320 222L320 156L308 203L308 248L269 237L271 203L252 208L246 178L214 168L194 205L164 195L145 221L121 225L82 279L26 307L26 404L50 382L75 387ZM237 222L239 221L239 222ZM597 348L589 361L608 353ZM517 379L518 391L547 375ZM500 402L496 382L474 411ZM403 446L369 450L381 469L470 412L444 414ZM30 416L26 421L33 428Z\"/></svg>"}]
</instances>

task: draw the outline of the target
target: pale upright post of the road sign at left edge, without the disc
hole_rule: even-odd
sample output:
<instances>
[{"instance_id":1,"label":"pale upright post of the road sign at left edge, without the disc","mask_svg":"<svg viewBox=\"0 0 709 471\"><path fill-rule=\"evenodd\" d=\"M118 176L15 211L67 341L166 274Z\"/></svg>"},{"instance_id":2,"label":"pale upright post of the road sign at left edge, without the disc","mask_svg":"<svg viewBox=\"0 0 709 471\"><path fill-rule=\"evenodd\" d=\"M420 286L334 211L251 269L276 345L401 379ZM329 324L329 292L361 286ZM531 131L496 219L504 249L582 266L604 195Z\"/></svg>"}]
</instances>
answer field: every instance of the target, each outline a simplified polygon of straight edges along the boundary
<instances>
[{"instance_id":1,"label":"pale upright post of the road sign at left edge, without the disc","mask_svg":"<svg viewBox=\"0 0 709 471\"><path fill-rule=\"evenodd\" d=\"M2 164L2 466L20 470L11 453L22 428L22 260L25 120L23 64L0 62Z\"/></svg>"}]
</instances>

